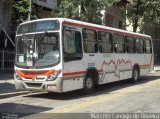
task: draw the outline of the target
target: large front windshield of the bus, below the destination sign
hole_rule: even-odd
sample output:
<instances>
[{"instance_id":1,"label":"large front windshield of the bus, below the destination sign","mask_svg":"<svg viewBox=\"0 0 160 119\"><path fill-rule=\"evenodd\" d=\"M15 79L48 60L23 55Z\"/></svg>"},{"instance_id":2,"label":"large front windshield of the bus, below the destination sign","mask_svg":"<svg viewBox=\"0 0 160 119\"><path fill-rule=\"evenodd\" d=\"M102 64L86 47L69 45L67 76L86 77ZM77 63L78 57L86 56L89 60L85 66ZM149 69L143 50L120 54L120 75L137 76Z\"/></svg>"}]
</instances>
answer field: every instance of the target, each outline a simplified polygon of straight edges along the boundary
<instances>
[{"instance_id":1,"label":"large front windshield of the bus, below the destination sign","mask_svg":"<svg viewBox=\"0 0 160 119\"><path fill-rule=\"evenodd\" d=\"M59 62L59 33L44 32L17 36L15 64L22 67L49 67Z\"/></svg>"}]
</instances>

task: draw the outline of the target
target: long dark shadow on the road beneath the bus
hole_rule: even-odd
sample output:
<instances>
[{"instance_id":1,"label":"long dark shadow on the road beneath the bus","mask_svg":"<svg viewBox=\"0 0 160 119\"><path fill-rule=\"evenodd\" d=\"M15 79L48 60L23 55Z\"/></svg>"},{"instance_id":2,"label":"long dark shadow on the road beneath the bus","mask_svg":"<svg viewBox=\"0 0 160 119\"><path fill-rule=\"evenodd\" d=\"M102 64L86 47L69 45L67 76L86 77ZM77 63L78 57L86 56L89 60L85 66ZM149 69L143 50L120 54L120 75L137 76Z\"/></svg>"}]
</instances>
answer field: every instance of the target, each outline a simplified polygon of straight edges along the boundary
<instances>
[{"instance_id":1,"label":"long dark shadow on the road beneath the bus","mask_svg":"<svg viewBox=\"0 0 160 119\"><path fill-rule=\"evenodd\" d=\"M97 86L95 88L95 91L92 94L88 94L88 95L84 95L81 92L81 90L77 90L77 91L71 91L66 93L36 93L36 94L33 93L24 97L44 98L44 99L51 99L51 100L73 100L73 99L80 99L84 97L93 97L97 95L110 94L110 92L112 91L120 90L126 87L145 84L153 80L160 80L159 78L160 76L158 75L149 75L149 76L141 77L139 82L137 83L131 83L129 80L108 83L108 84Z\"/></svg>"}]
</instances>

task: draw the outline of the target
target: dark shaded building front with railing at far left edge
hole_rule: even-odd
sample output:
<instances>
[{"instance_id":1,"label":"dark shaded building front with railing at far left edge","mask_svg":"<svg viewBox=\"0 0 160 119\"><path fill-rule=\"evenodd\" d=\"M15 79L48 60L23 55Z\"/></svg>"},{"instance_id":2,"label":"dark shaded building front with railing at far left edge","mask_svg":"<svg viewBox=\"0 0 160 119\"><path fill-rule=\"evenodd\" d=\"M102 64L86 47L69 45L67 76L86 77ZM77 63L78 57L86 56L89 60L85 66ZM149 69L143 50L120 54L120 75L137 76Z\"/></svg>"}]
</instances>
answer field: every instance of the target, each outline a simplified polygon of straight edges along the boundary
<instances>
[{"instance_id":1,"label":"dark shaded building front with railing at far left edge","mask_svg":"<svg viewBox=\"0 0 160 119\"><path fill-rule=\"evenodd\" d=\"M14 33L12 10L7 0L0 1L0 73L13 72ZM12 44L13 43L13 44Z\"/></svg>"}]
</instances>

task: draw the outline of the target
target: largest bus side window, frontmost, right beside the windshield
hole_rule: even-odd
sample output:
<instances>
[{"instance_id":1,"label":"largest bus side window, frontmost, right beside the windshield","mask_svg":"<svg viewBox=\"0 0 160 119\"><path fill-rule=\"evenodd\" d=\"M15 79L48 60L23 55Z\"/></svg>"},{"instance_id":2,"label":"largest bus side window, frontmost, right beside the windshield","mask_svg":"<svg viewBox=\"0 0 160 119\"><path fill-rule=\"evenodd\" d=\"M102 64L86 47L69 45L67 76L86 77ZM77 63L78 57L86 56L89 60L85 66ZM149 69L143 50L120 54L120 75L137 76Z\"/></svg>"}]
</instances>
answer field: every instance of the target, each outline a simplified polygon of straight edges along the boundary
<instances>
[{"instance_id":1,"label":"largest bus side window, frontmost, right beside the windshield","mask_svg":"<svg viewBox=\"0 0 160 119\"><path fill-rule=\"evenodd\" d=\"M63 32L64 61L79 60L82 58L81 33L65 30Z\"/></svg>"}]
</instances>

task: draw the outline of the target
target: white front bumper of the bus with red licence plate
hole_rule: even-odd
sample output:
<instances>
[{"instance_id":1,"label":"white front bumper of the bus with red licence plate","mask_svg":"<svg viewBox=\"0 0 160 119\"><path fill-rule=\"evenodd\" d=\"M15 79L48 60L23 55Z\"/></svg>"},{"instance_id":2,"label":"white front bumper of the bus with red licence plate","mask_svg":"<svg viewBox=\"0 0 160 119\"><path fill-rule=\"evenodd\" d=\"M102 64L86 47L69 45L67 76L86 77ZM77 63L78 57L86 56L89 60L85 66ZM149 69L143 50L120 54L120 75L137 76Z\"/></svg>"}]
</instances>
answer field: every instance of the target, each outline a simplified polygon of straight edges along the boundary
<instances>
[{"instance_id":1,"label":"white front bumper of the bus with red licence plate","mask_svg":"<svg viewBox=\"0 0 160 119\"><path fill-rule=\"evenodd\" d=\"M62 78L54 81L24 81L15 79L15 88L37 92L62 92Z\"/></svg>"}]
</instances>

